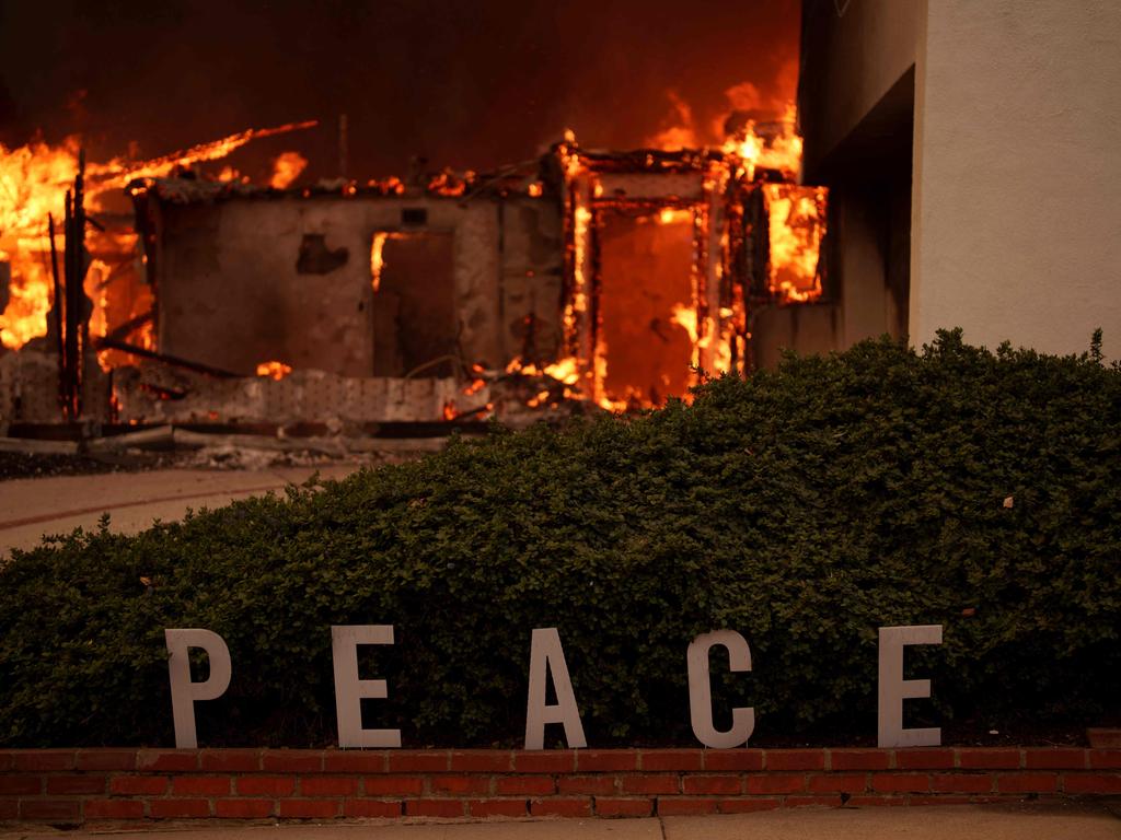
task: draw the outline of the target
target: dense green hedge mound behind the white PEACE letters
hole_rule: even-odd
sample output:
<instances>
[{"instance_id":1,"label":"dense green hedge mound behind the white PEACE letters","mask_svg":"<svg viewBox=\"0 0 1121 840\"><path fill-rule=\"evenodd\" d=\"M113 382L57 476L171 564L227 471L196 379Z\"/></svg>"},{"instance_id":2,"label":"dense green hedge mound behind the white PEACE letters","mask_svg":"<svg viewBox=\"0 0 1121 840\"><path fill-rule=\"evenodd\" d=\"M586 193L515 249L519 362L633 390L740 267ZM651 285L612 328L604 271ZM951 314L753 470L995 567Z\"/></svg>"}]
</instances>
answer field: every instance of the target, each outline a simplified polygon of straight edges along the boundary
<instances>
[{"instance_id":1,"label":"dense green hedge mound behind the white PEACE letters","mask_svg":"<svg viewBox=\"0 0 1121 840\"><path fill-rule=\"evenodd\" d=\"M865 342L710 382L692 407L495 429L17 553L0 743L173 743L163 632L192 626L233 657L228 694L196 707L206 745L333 743L333 624L396 626L364 648L390 692L367 725L406 746L519 743L548 626L593 746L693 743L685 650L721 627L754 671L716 693L754 706L758 737L874 732L892 624L945 625L908 653L934 680L908 703L921 718L1101 720L1121 697L1119 549L1121 371L1096 345Z\"/></svg>"}]
</instances>

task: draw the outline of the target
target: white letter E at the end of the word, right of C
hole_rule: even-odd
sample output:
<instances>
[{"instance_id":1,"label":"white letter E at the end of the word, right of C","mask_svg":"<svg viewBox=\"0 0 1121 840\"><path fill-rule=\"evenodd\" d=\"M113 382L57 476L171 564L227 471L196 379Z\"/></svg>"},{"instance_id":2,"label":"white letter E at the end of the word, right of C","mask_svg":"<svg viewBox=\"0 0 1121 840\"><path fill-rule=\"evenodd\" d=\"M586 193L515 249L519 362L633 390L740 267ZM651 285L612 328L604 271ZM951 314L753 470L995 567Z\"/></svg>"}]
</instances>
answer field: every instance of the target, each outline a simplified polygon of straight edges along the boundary
<instances>
[{"instance_id":1,"label":"white letter E at the end of the word, right of C","mask_svg":"<svg viewBox=\"0 0 1121 840\"><path fill-rule=\"evenodd\" d=\"M880 627L880 747L936 747L942 729L904 729L904 700L930 697L929 680L904 679L904 645L941 645L942 625Z\"/></svg>"}]
</instances>

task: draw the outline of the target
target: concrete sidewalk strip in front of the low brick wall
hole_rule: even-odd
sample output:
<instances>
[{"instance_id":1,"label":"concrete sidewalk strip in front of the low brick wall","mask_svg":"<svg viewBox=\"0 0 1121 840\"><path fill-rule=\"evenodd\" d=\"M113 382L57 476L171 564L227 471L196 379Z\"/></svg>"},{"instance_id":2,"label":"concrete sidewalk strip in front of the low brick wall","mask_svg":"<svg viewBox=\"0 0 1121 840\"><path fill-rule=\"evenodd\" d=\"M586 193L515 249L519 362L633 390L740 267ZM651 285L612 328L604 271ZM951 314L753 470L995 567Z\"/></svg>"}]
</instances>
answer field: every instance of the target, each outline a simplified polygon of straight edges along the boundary
<instances>
[{"instance_id":1,"label":"concrete sidewalk strip in front of the low brick wall","mask_svg":"<svg viewBox=\"0 0 1121 840\"><path fill-rule=\"evenodd\" d=\"M279 824L67 831L67 838L142 833L183 840L1118 840L1121 810L1109 804L941 805L796 809L726 816L639 820L526 820L474 823ZM0 838L41 838L9 829ZM57 832L63 833L63 832Z\"/></svg>"}]
</instances>

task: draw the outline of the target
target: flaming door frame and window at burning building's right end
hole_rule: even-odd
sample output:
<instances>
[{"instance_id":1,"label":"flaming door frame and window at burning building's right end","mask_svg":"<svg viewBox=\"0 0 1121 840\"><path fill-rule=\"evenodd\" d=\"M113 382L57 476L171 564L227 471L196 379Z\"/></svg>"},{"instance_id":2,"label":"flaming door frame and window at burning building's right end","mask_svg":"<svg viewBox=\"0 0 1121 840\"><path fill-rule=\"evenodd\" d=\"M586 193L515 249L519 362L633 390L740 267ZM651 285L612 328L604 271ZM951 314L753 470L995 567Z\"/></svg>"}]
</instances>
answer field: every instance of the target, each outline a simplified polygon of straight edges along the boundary
<instances>
[{"instance_id":1,"label":"flaming door frame and window at burning building's right end","mask_svg":"<svg viewBox=\"0 0 1121 840\"><path fill-rule=\"evenodd\" d=\"M701 371L743 374L753 309L822 297L826 192L788 183L799 152L789 121L762 134L750 120L721 149L584 151L573 137L557 147L565 351L592 400L612 410L657 405L686 395L689 367L685 385ZM620 215L630 220L626 236ZM622 329L621 318L630 318ZM686 361L655 361L683 338Z\"/></svg>"}]
</instances>

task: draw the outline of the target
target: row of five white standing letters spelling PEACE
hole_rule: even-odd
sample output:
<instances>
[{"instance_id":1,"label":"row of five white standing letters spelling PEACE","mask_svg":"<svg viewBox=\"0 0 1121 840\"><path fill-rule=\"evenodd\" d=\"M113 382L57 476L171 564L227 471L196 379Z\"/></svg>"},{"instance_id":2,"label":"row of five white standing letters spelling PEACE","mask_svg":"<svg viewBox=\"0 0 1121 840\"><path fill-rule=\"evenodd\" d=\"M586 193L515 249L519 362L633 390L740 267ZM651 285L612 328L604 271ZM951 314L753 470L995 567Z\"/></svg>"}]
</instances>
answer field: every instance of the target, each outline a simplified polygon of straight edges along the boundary
<instances>
[{"instance_id":1,"label":"row of five white standing letters spelling PEACE","mask_svg":"<svg viewBox=\"0 0 1121 840\"><path fill-rule=\"evenodd\" d=\"M230 687L233 663L230 650L216 633L202 629L166 629L168 674L175 746L197 746L195 701L216 700ZM941 644L942 625L880 627L878 681L878 745L880 747L937 746L942 732L936 728L905 729L902 701L930 696L929 680L904 679L904 647ZM335 680L335 711L339 746L343 748L395 748L401 746L399 729L364 729L362 700L386 699L385 680L359 678L358 648L361 645L393 644L393 625L348 625L331 628L331 653ZM210 674L200 682L191 679L191 648L206 652ZM686 651L689 689L689 722L697 740L712 749L731 749L748 744L754 731L756 713L751 708L731 710L729 729L714 724L710 683L710 652L723 647L732 672L751 671L751 648L735 631L704 633ZM552 681L556 703L546 702L546 683ZM529 690L526 702L526 749L543 749L545 725L559 724L569 747L587 746L580 708L573 691L560 635L556 627L534 629L529 651ZM495 737L500 734L495 732Z\"/></svg>"}]
</instances>

